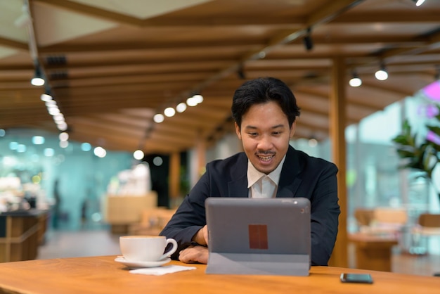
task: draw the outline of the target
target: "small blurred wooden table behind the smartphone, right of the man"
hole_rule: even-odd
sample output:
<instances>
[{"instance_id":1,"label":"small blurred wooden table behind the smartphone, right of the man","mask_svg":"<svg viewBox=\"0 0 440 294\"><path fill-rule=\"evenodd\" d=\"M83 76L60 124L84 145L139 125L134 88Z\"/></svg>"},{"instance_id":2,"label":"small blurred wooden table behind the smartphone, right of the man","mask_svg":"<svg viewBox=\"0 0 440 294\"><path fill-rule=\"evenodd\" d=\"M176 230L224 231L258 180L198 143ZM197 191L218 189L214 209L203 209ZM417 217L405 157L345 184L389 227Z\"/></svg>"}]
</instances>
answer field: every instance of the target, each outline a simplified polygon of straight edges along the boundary
<instances>
[{"instance_id":1,"label":"small blurred wooden table behind the smartphone, right of the man","mask_svg":"<svg viewBox=\"0 0 440 294\"><path fill-rule=\"evenodd\" d=\"M395 236L349 234L349 242L356 246L356 268L392 271L392 247L398 244Z\"/></svg>"}]
</instances>

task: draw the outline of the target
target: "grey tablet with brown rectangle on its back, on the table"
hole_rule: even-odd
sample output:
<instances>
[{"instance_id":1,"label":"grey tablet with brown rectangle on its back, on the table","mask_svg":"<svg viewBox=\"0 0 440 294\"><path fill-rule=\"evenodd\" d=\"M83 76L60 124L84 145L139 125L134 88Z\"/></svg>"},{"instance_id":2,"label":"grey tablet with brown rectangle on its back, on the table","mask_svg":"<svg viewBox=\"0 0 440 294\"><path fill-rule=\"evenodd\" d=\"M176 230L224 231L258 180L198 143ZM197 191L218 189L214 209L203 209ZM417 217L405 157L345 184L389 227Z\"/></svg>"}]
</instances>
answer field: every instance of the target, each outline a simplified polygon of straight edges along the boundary
<instances>
[{"instance_id":1,"label":"grey tablet with brown rectangle on its back, on the table","mask_svg":"<svg viewBox=\"0 0 440 294\"><path fill-rule=\"evenodd\" d=\"M207 198L207 274L309 275L307 198Z\"/></svg>"}]
</instances>

